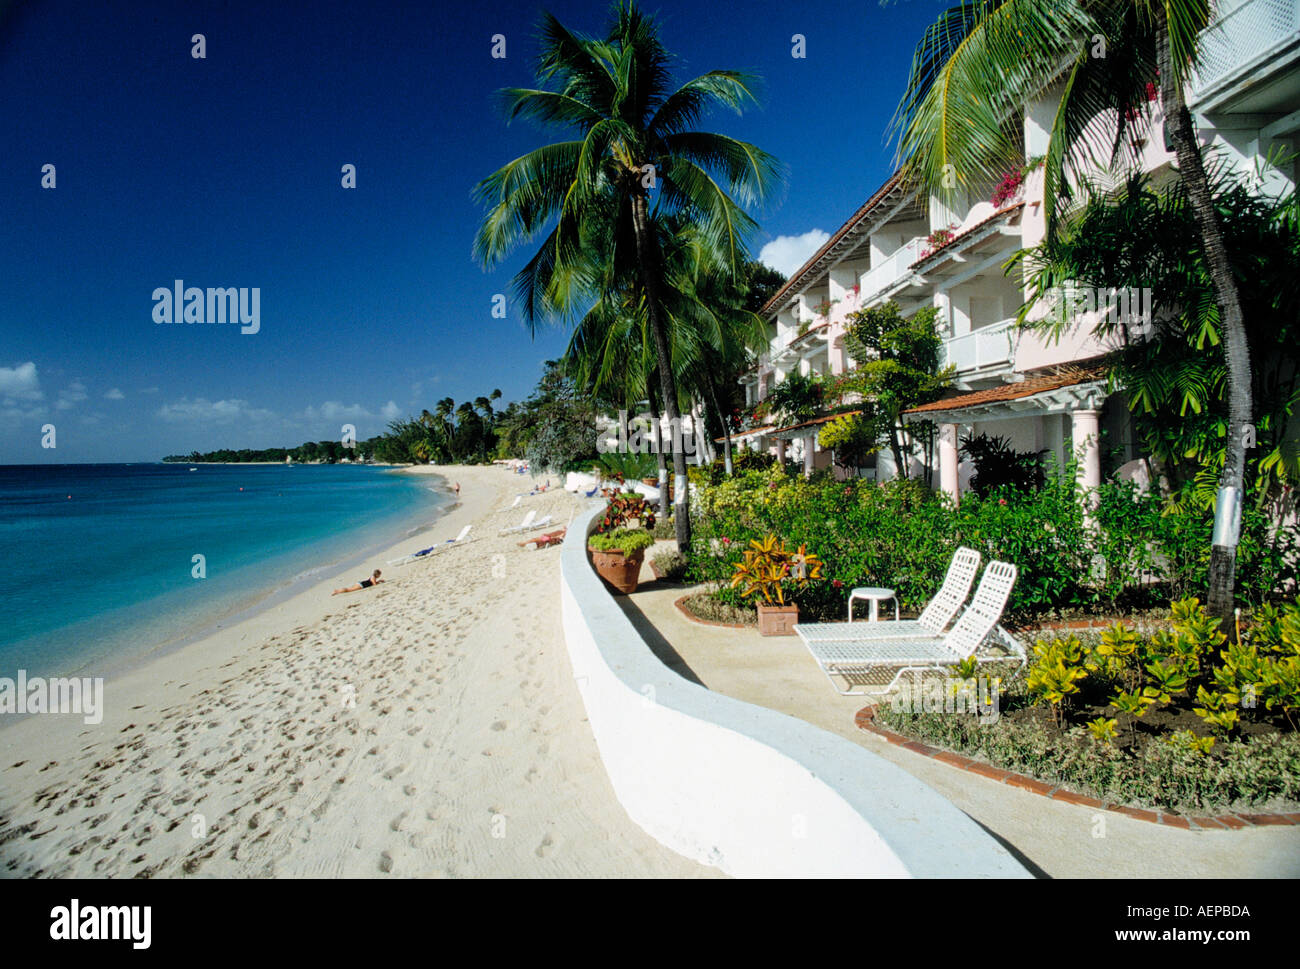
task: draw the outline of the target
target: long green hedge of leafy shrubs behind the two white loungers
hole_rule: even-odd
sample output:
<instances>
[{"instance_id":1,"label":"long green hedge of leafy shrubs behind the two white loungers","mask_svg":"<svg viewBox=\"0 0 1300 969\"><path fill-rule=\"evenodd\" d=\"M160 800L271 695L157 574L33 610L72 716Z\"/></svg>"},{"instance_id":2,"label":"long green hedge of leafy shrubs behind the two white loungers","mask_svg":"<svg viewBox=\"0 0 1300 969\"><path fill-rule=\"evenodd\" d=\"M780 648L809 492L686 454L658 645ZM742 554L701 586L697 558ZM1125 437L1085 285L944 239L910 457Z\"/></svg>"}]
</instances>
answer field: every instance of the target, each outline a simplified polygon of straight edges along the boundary
<instances>
[{"instance_id":1,"label":"long green hedge of leafy shrubs behind the two white loungers","mask_svg":"<svg viewBox=\"0 0 1300 969\"><path fill-rule=\"evenodd\" d=\"M953 507L914 480L810 481L768 462L715 484L701 480L697 498L693 577L716 583L715 594L733 604L737 592L723 587L749 542L771 533L818 550L829 581L801 596L805 613L818 618L842 617L848 591L870 584L889 585L905 609L920 610L958 545L1019 567L1009 607L1020 618L1164 607L1205 594L1210 512L1191 502L1171 507L1132 483L1106 483L1097 492L1096 527L1086 528L1070 468L1049 467L1040 490L967 493ZM1294 594L1287 591L1297 577L1300 531L1275 525L1253 507L1243 514L1243 602Z\"/></svg>"}]
</instances>

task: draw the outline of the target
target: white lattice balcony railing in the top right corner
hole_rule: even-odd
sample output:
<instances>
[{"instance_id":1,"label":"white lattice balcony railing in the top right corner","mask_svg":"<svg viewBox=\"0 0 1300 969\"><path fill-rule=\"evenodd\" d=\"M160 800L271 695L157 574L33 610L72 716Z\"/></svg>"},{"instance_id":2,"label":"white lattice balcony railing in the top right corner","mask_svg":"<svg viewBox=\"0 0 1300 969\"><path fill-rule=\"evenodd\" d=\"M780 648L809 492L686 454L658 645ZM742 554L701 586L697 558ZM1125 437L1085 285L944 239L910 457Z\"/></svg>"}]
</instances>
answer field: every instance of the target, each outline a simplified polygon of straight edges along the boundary
<instances>
[{"instance_id":1,"label":"white lattice balcony railing in the top right corner","mask_svg":"<svg viewBox=\"0 0 1300 969\"><path fill-rule=\"evenodd\" d=\"M1201 64L1190 99L1193 103L1300 34L1300 0L1218 0L1217 9L1216 21L1201 34Z\"/></svg>"}]
</instances>

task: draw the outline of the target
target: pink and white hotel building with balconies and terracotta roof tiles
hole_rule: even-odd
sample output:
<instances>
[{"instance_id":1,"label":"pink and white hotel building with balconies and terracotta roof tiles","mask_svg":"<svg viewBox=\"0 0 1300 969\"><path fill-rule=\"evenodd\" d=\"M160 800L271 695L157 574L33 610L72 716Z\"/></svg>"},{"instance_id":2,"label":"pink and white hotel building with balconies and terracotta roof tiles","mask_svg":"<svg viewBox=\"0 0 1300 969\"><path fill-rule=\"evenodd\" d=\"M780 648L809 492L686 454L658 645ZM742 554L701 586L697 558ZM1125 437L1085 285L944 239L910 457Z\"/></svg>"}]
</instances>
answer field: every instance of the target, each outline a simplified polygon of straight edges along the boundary
<instances>
[{"instance_id":1,"label":"pink and white hotel building with balconies and terracotta roof tiles","mask_svg":"<svg viewBox=\"0 0 1300 969\"><path fill-rule=\"evenodd\" d=\"M1023 105L1026 159L1046 152L1058 101L1056 90ZM1145 139L1135 142L1141 169L1156 185L1176 160L1162 139L1158 104ZM1218 20L1202 36L1202 68L1188 90L1188 107L1202 146L1243 170L1257 170L1270 152L1295 151L1300 133L1300 0L1221 0ZM1100 173L1098 173L1100 174ZM1106 173L1115 185L1123 172ZM1295 186L1291 163L1264 172L1261 192ZM994 206L994 185L974 186L956 202L918 194L896 174L853 213L767 303L771 342L741 377L746 403L763 401L790 373L838 375L854 363L844 347L849 313L896 300L904 313L933 306L944 363L956 368L942 401L916 408L909 420L939 425L932 486L954 497L970 470L958 444L987 432L1020 451L1079 458L1079 477L1095 486L1104 475L1141 475L1126 401L1106 392L1098 359L1114 349L1091 333L1096 315L1074 316L1065 336L1049 338L1015 326L1027 299L1018 273L1004 272L1017 251L1045 233L1043 173L1031 170L1020 190ZM950 230L936 239L932 233ZM828 467L816 444L829 418L794 427L764 424L734 436L740 446L801 460L806 471ZM920 451L911 458L920 470ZM888 449L862 470L878 480L898 470Z\"/></svg>"}]
</instances>

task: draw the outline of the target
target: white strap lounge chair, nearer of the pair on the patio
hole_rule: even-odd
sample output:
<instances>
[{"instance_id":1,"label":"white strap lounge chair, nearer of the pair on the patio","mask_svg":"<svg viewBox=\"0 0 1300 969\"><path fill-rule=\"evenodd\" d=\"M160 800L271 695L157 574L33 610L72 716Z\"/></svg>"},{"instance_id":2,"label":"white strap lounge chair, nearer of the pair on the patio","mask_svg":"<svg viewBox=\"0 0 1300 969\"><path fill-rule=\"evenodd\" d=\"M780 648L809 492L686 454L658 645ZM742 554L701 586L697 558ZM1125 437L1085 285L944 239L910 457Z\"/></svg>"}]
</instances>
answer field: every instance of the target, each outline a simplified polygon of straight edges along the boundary
<instances>
[{"instance_id":1,"label":"white strap lounge chair, nearer of the pair on the patio","mask_svg":"<svg viewBox=\"0 0 1300 969\"><path fill-rule=\"evenodd\" d=\"M859 633L887 623L814 623L796 626L794 632L841 696L888 693L905 672L941 670L970 657L975 657L978 663L1015 662L1019 669L1026 662L1024 648L998 626L1011 596L1011 587L1015 585L1015 566L989 562L975 589L975 598L945 636L875 639L870 632L846 636L848 631ZM980 653L987 645L992 645L991 639L996 639L996 645L1002 646L1008 654L996 656L987 650ZM864 682L880 670L894 671L884 687ZM836 676L844 678L849 688L841 689L835 682ZM863 680L858 684L861 689L853 689L854 678Z\"/></svg>"}]
</instances>

